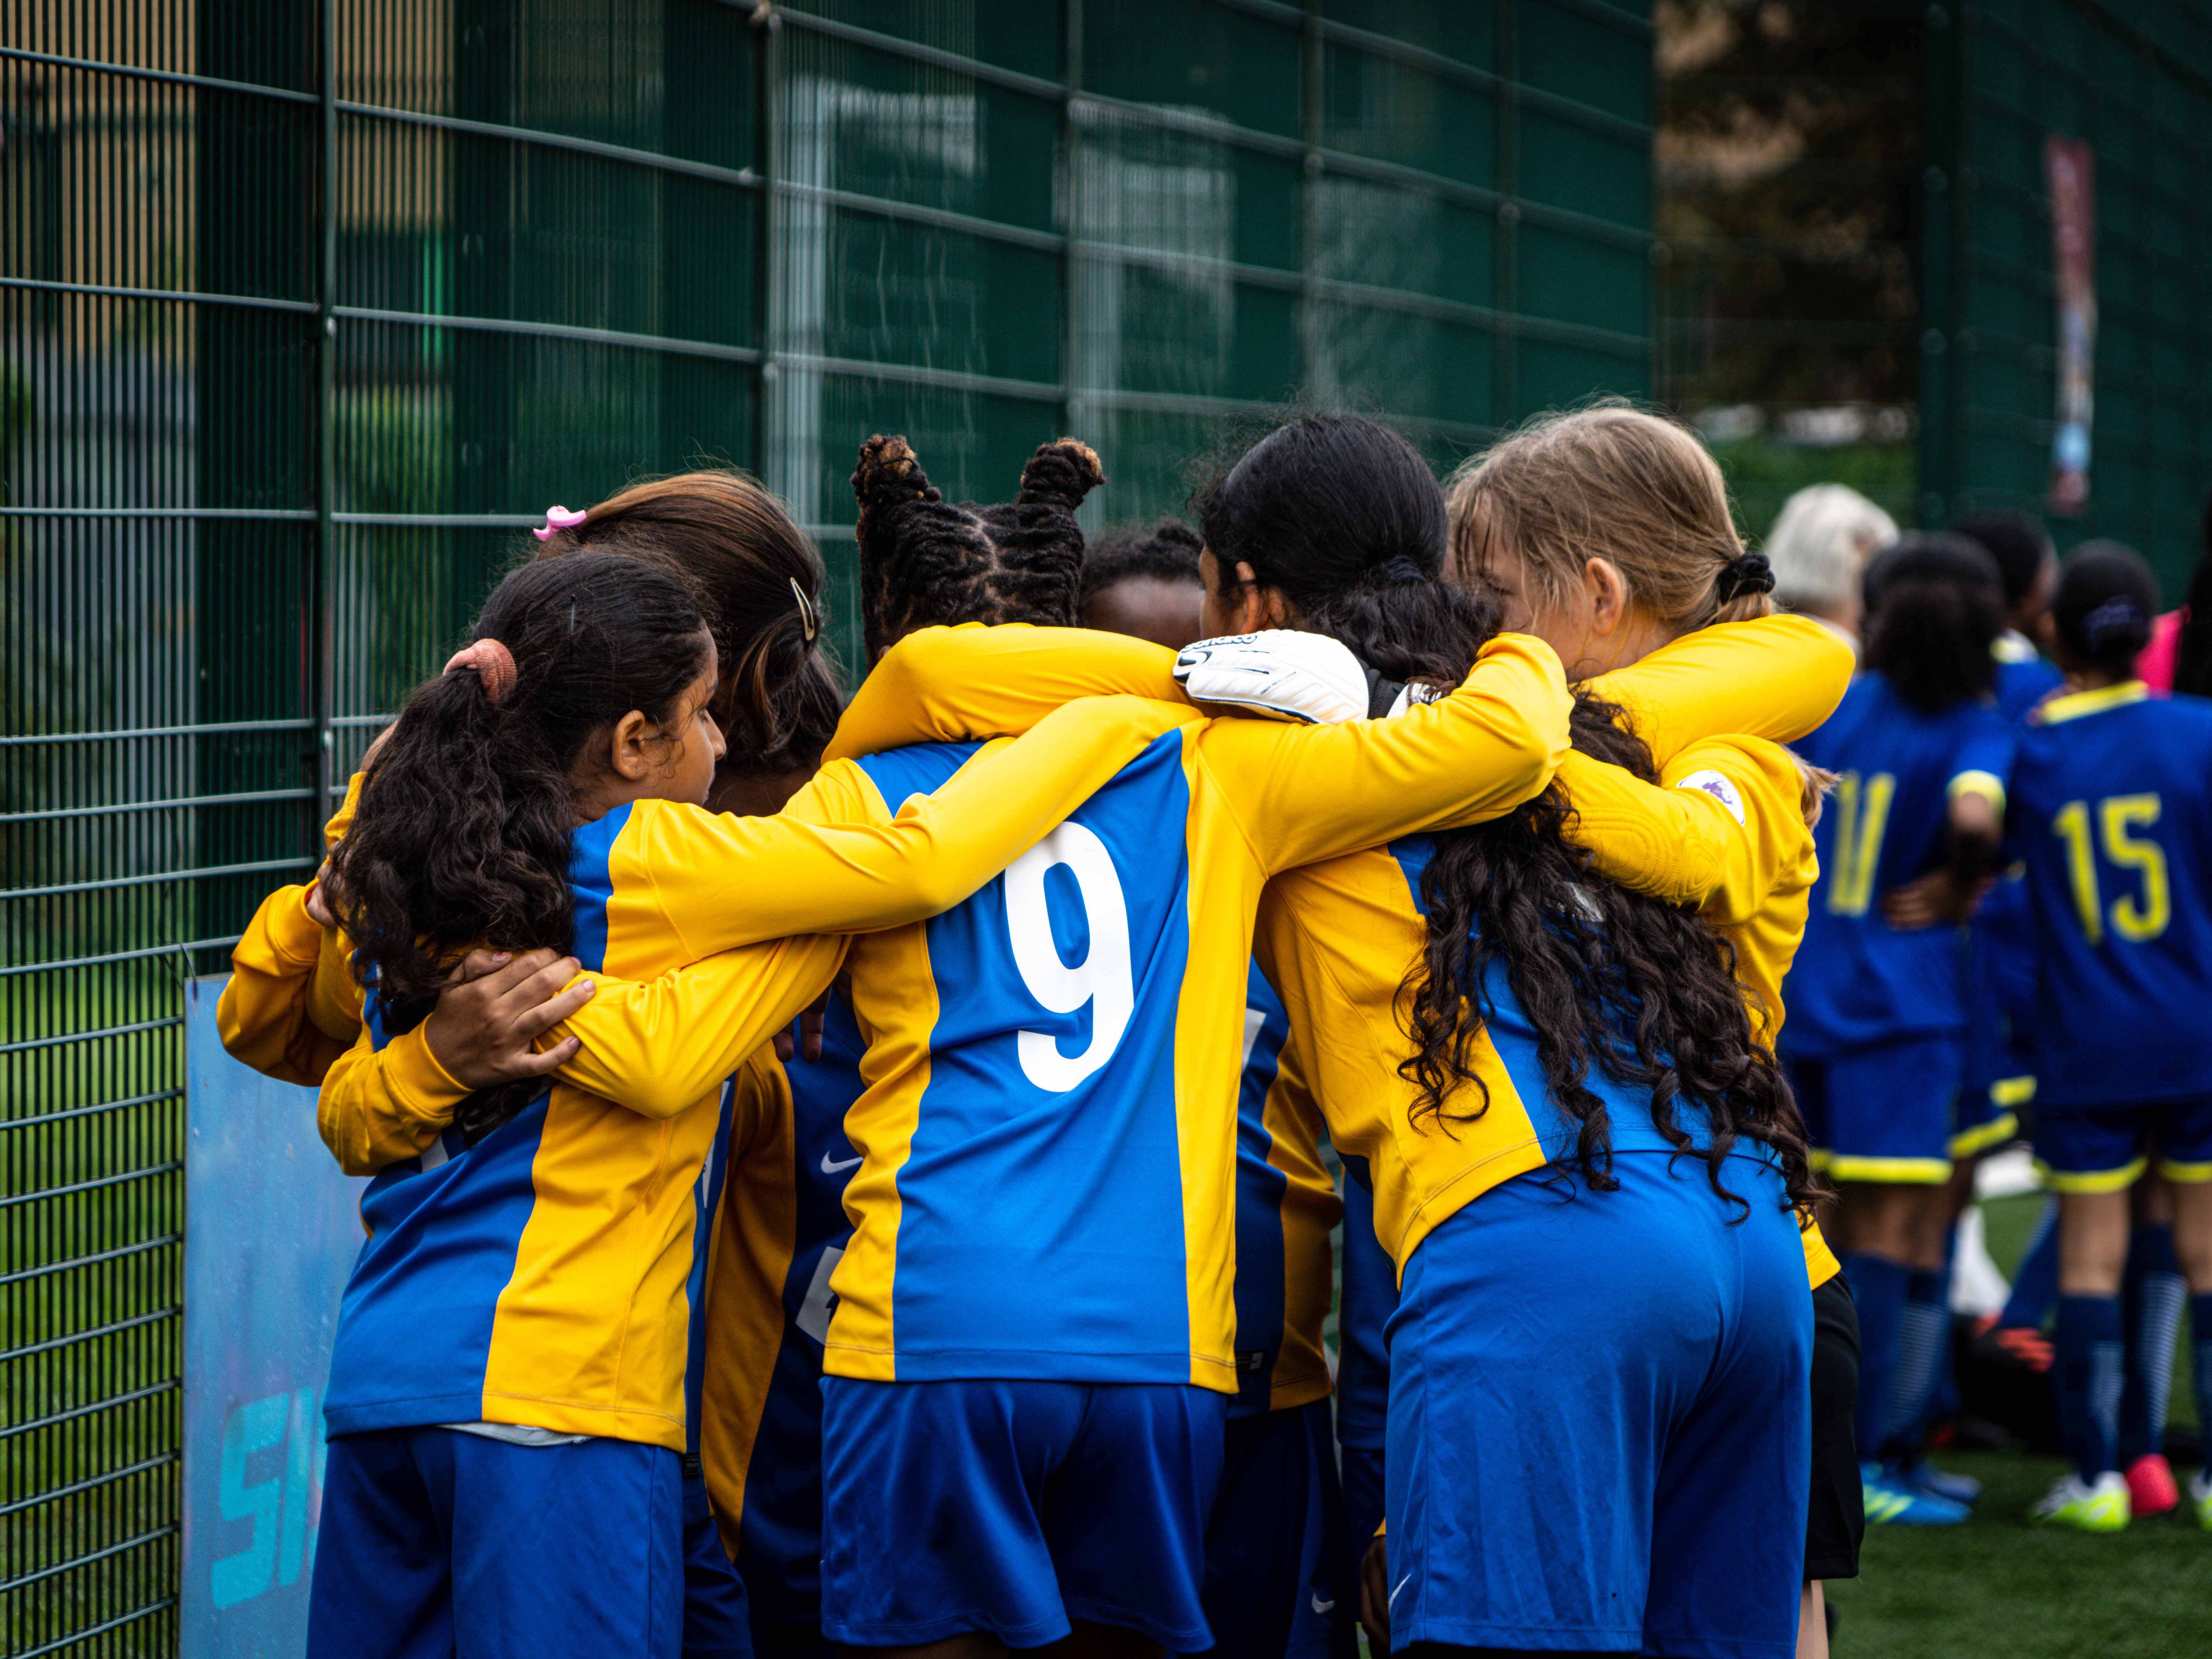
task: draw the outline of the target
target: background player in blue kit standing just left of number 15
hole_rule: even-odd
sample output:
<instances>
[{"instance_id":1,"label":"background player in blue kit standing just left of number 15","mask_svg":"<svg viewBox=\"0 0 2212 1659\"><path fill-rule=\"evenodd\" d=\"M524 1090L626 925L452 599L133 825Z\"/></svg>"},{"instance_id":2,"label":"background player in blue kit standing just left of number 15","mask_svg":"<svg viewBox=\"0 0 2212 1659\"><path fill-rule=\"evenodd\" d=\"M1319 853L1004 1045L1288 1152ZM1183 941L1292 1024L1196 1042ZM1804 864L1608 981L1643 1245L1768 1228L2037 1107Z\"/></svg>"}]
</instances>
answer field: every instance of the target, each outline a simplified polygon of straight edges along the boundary
<instances>
[{"instance_id":1,"label":"background player in blue kit standing just left of number 15","mask_svg":"<svg viewBox=\"0 0 2212 1659\"><path fill-rule=\"evenodd\" d=\"M1865 668L1798 752L1838 774L1818 825L1820 885L1790 973L1783 1055L1829 1177L1858 1301L1858 1449L1867 1520L1955 1524L1960 1502L1876 1462L1898 1400L1907 1303L1940 1316L1953 1106L1964 1082L1964 960L1947 925L1900 929L1880 896L1995 849L2013 734L1989 701L2002 630L1995 568L1973 542L1916 535L1869 571ZM1933 1367L1920 1367L1924 1391Z\"/></svg>"}]
</instances>

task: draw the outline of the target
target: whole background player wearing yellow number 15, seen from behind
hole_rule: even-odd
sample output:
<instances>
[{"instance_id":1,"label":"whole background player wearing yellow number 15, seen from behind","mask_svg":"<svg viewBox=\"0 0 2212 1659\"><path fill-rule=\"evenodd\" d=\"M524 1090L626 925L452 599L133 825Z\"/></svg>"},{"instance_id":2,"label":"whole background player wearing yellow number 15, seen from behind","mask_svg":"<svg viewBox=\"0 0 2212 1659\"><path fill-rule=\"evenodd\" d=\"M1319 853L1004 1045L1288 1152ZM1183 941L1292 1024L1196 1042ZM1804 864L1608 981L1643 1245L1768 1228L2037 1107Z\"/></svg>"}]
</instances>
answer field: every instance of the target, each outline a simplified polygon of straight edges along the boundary
<instances>
[{"instance_id":1,"label":"whole background player wearing yellow number 15, seen from behind","mask_svg":"<svg viewBox=\"0 0 2212 1659\"><path fill-rule=\"evenodd\" d=\"M2022 739L2011 836L2037 936L2035 1155L2059 1194L2053 1345L2073 1473L2037 1520L2117 1531L2128 1188L2174 1188L2199 1409L2212 1420L2212 703L2132 677L2157 584L2119 549L2077 551L2053 604L2066 692ZM2212 1526L2212 1486L2190 1482Z\"/></svg>"}]
</instances>

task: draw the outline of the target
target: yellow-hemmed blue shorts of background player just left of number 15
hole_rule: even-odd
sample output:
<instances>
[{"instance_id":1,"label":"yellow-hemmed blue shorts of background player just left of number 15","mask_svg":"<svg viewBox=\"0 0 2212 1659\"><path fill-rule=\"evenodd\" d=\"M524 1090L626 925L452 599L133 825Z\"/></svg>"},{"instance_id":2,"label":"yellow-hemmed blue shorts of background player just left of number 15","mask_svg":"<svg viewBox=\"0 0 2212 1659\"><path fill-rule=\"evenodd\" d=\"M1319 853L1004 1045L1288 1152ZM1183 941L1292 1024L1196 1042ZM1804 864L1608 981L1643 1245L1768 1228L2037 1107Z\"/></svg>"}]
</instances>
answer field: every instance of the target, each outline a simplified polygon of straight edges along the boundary
<instances>
[{"instance_id":1,"label":"yellow-hemmed blue shorts of background player just left of number 15","mask_svg":"<svg viewBox=\"0 0 2212 1659\"><path fill-rule=\"evenodd\" d=\"M1907 1037L1827 1060L1785 1057L1814 1164L1834 1181L1942 1186L1966 1075L1960 1037Z\"/></svg>"}]
</instances>

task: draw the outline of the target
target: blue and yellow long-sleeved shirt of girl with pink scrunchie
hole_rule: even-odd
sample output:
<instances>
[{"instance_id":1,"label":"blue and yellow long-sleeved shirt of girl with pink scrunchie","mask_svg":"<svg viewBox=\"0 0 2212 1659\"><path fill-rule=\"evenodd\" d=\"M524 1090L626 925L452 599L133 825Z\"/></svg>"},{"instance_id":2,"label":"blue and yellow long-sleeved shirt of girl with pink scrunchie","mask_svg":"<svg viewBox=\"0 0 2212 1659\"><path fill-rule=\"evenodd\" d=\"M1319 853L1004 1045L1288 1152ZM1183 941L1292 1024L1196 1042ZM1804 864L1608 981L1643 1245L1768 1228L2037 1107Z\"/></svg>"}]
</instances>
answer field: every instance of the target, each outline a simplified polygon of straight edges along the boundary
<instances>
[{"instance_id":1,"label":"blue and yellow long-sleeved shirt of girl with pink scrunchie","mask_svg":"<svg viewBox=\"0 0 2212 1659\"><path fill-rule=\"evenodd\" d=\"M843 938L816 933L721 947L942 909L1161 728L1137 699L1066 714L1031 734L1042 743L993 745L962 787L898 814L880 799L854 807L865 781L854 790L856 770L832 768L810 792L821 803L843 783L845 807L823 823L635 801L577 830L573 949L615 978L553 1033L586 1042L568 1073L476 1146L445 1130L467 1091L420 1029L385 1031L372 998L323 1084L341 1161L383 1166L341 1305L332 1433L487 1420L692 1444L726 1150L732 1135L774 1133L759 1104L772 1091L739 1091L732 1075L845 956ZM655 982L708 951L684 984ZM608 1068L628 1084L624 1104L597 1086Z\"/></svg>"}]
</instances>

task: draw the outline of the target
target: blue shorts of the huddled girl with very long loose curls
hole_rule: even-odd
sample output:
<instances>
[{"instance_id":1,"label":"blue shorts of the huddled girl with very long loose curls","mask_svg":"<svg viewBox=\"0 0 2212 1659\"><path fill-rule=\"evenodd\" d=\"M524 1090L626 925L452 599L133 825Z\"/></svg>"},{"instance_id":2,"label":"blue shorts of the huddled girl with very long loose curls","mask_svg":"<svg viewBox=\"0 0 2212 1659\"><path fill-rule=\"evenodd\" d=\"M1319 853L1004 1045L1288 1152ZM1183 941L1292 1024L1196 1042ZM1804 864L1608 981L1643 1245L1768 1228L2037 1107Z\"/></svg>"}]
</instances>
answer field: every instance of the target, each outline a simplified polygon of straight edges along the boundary
<instances>
[{"instance_id":1,"label":"blue shorts of the huddled girl with very long loose curls","mask_svg":"<svg viewBox=\"0 0 2212 1659\"><path fill-rule=\"evenodd\" d=\"M1613 1172L1506 1181L1405 1267L1394 1648L1796 1655L1812 1294L1781 1175L1728 1161L1743 1217L1703 1161Z\"/></svg>"}]
</instances>

